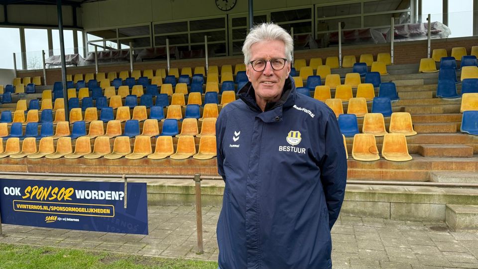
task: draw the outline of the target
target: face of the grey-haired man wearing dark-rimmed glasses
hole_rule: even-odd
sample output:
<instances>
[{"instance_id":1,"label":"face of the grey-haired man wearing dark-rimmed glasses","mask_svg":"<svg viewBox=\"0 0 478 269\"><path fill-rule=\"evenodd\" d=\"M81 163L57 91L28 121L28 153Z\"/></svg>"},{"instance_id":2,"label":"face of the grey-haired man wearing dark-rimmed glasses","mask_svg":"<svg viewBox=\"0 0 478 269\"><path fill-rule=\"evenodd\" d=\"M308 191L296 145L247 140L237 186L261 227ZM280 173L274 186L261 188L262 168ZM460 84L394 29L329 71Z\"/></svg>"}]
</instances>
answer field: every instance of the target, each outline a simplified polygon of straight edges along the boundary
<instances>
[{"instance_id":1,"label":"face of the grey-haired man wearing dark-rimmed glasses","mask_svg":"<svg viewBox=\"0 0 478 269\"><path fill-rule=\"evenodd\" d=\"M261 41L250 47L250 61L257 59L270 60L272 58L286 58L285 45L280 40ZM263 71L255 71L251 64L246 66L246 74L254 87L256 102L276 102L280 99L284 83L290 73L290 62L286 61L281 70L272 69L271 63L266 62Z\"/></svg>"}]
</instances>

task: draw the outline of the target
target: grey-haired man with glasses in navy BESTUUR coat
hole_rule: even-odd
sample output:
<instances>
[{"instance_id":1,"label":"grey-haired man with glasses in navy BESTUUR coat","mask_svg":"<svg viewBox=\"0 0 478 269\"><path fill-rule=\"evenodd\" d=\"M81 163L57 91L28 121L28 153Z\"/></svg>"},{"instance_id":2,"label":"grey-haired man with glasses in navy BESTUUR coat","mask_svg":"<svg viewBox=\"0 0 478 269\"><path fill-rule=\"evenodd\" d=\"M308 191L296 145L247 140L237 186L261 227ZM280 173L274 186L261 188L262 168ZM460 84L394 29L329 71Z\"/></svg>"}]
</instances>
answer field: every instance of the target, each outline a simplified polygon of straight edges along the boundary
<instances>
[{"instance_id":1,"label":"grey-haired man with glasses in navy BESTUUR coat","mask_svg":"<svg viewBox=\"0 0 478 269\"><path fill-rule=\"evenodd\" d=\"M296 92L292 50L276 24L251 29L242 47L249 82L217 121L221 269L332 268L346 153L332 110Z\"/></svg>"}]
</instances>

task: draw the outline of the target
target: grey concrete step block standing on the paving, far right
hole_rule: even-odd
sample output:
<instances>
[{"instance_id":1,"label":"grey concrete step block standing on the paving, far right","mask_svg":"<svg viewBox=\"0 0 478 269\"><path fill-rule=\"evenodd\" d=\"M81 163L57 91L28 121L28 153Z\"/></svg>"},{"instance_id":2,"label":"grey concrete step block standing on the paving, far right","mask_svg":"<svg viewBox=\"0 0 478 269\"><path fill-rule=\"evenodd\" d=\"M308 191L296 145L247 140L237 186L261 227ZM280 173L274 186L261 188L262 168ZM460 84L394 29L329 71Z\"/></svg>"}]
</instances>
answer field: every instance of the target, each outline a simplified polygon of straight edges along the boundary
<instances>
[{"instance_id":1,"label":"grey concrete step block standing on the paving, far right","mask_svg":"<svg viewBox=\"0 0 478 269\"><path fill-rule=\"evenodd\" d=\"M447 204L445 222L453 231L478 230L478 205Z\"/></svg>"}]
</instances>

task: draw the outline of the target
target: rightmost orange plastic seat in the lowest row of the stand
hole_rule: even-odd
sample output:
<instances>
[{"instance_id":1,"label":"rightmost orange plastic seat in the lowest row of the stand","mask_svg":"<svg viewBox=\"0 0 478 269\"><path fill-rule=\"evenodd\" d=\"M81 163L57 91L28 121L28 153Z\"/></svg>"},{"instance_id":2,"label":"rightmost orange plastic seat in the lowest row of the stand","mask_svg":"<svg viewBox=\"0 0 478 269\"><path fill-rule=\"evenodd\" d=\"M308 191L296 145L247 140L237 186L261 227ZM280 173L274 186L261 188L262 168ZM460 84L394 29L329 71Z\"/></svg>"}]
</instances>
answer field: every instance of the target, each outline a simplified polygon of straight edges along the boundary
<instances>
[{"instance_id":1,"label":"rightmost orange plastic seat in the lowest row of the stand","mask_svg":"<svg viewBox=\"0 0 478 269\"><path fill-rule=\"evenodd\" d=\"M408 154L407 139L404 134L385 134L383 136L382 156L390 161L407 161L412 156Z\"/></svg>"}]
</instances>

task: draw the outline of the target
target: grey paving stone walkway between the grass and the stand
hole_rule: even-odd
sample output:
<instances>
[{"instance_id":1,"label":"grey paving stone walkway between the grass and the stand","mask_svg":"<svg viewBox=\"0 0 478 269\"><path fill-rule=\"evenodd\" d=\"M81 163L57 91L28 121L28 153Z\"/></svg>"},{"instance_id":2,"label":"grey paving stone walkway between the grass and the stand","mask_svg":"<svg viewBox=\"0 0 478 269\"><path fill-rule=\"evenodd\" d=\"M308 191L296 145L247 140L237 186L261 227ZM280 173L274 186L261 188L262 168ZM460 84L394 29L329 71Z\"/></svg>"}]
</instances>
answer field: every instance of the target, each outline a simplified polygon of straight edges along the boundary
<instances>
[{"instance_id":1,"label":"grey paving stone walkway between the grass and the stand","mask_svg":"<svg viewBox=\"0 0 478 269\"><path fill-rule=\"evenodd\" d=\"M203 207L202 255L194 206L149 206L147 236L4 224L0 242L217 261L220 210ZM478 269L478 231L452 232L443 222L340 216L332 240L334 269Z\"/></svg>"}]
</instances>

